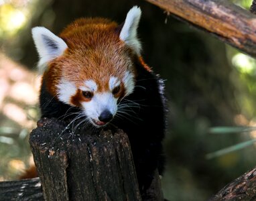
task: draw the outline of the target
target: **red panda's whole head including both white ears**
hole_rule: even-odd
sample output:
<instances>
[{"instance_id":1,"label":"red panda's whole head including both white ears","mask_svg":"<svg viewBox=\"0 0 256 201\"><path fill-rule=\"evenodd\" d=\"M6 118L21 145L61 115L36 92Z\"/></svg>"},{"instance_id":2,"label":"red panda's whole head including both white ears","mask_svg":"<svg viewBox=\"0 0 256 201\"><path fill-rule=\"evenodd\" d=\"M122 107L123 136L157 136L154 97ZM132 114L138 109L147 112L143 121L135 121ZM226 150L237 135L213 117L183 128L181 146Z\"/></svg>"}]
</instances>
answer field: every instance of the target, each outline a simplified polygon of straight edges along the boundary
<instances>
[{"instance_id":1,"label":"red panda's whole head including both white ears","mask_svg":"<svg viewBox=\"0 0 256 201\"><path fill-rule=\"evenodd\" d=\"M78 19L60 37L44 27L32 29L48 91L80 107L97 127L111 121L118 100L133 92L140 16L139 7L133 7L122 26L103 18Z\"/></svg>"}]
</instances>

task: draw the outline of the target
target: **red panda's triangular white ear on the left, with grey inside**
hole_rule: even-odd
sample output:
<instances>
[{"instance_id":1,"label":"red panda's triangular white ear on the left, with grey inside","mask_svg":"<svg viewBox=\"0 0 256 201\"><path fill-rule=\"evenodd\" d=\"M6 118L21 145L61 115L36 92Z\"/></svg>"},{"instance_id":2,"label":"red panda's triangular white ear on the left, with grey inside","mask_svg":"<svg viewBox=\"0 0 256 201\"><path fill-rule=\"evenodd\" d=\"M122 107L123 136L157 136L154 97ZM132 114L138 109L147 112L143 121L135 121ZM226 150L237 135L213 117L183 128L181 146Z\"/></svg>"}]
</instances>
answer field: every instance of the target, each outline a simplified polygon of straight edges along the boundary
<instances>
[{"instance_id":1,"label":"red panda's triangular white ear on the left, with grey inside","mask_svg":"<svg viewBox=\"0 0 256 201\"><path fill-rule=\"evenodd\" d=\"M32 37L40 57L38 70L40 73L43 73L46 70L47 62L62 55L68 46L64 40L54 35L45 27L34 27L32 29Z\"/></svg>"}]
</instances>

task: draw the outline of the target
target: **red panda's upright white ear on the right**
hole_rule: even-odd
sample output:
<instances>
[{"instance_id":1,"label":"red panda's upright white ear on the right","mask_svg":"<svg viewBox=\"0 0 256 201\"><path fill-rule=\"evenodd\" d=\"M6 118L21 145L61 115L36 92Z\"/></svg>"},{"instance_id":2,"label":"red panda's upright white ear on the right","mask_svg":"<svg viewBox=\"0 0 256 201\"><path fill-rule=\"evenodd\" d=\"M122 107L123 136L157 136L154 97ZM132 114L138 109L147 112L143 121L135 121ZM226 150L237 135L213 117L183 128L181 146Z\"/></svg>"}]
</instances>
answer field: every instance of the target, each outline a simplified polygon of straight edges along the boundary
<instances>
[{"instance_id":1,"label":"red panda's upright white ear on the right","mask_svg":"<svg viewBox=\"0 0 256 201\"><path fill-rule=\"evenodd\" d=\"M137 27L139 19L141 18L141 9L133 6L127 13L125 23L121 30L119 38L123 40L128 46L133 48L137 54L140 55L141 44L137 39Z\"/></svg>"}]
</instances>

